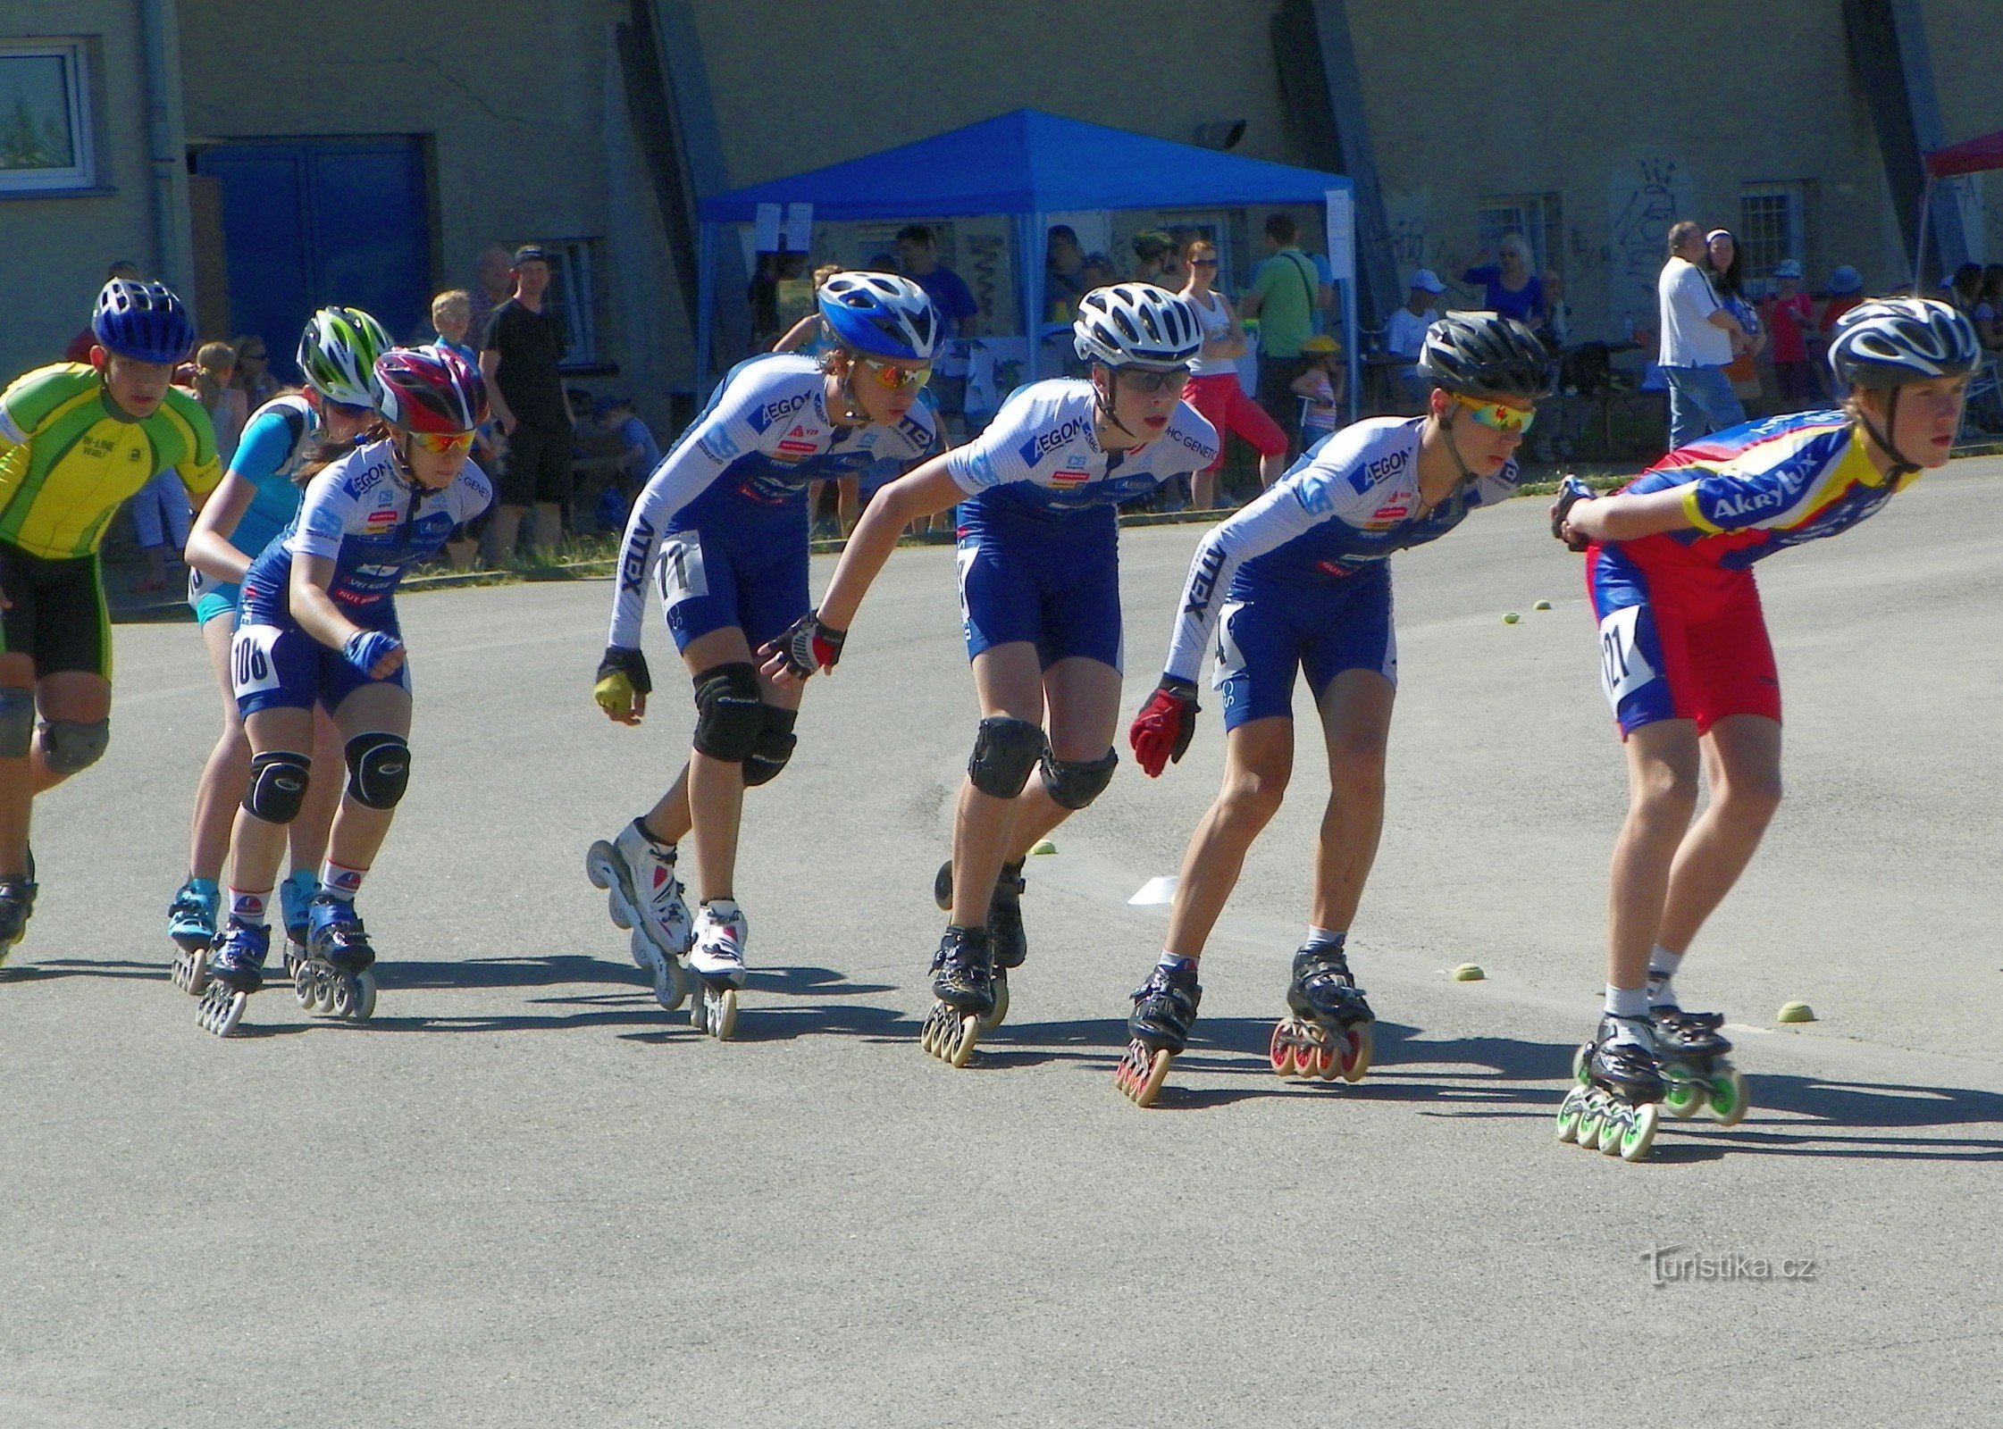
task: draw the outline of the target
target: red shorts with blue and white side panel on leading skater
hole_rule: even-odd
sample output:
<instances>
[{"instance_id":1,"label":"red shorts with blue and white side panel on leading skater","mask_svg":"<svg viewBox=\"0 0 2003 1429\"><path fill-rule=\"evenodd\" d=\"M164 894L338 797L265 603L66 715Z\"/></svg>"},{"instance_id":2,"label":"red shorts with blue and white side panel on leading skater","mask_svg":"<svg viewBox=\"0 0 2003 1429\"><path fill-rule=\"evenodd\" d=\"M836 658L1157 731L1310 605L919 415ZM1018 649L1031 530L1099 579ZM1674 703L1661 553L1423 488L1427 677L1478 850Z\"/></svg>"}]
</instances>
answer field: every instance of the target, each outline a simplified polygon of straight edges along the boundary
<instances>
[{"instance_id":1,"label":"red shorts with blue and white side panel on leading skater","mask_svg":"<svg viewBox=\"0 0 2003 1429\"><path fill-rule=\"evenodd\" d=\"M1703 735L1727 714L1781 719L1781 674L1751 570L1693 556L1668 536L1586 550L1600 622L1600 684L1620 733L1664 719Z\"/></svg>"}]
</instances>

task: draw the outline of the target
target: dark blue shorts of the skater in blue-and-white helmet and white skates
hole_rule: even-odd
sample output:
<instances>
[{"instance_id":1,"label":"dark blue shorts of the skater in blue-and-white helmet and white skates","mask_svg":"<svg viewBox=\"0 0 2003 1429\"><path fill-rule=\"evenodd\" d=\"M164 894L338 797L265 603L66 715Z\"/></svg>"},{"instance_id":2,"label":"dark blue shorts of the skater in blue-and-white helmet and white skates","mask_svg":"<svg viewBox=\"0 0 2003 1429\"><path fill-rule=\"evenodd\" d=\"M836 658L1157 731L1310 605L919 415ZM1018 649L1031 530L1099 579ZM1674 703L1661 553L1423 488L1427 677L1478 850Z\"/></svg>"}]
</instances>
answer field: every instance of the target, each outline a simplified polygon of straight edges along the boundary
<instances>
[{"instance_id":1,"label":"dark blue shorts of the skater in blue-and-white helmet and white skates","mask_svg":"<svg viewBox=\"0 0 2003 1429\"><path fill-rule=\"evenodd\" d=\"M661 536L655 570L675 648L711 630L745 632L751 648L785 634L807 614L807 520L755 522L739 530L673 530Z\"/></svg>"}]
</instances>

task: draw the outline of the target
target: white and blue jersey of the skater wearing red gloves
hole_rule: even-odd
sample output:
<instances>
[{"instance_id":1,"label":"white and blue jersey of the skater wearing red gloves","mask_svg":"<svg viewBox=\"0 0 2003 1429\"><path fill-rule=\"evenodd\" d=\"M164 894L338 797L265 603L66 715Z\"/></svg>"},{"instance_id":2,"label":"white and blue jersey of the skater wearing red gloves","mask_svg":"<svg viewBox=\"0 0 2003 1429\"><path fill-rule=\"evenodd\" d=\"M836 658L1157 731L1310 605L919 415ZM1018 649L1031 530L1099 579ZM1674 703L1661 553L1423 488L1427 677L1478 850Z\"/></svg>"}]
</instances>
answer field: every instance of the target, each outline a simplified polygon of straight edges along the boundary
<instances>
[{"instance_id":1,"label":"white and blue jersey of the skater wearing red gloves","mask_svg":"<svg viewBox=\"0 0 2003 1429\"><path fill-rule=\"evenodd\" d=\"M1318 442L1272 490L1214 526L1182 584L1168 674L1194 680L1224 598L1262 590L1282 604L1364 570L1394 550L1438 540L1476 506L1516 494L1516 464L1456 486L1426 506L1418 490L1424 418L1372 416Z\"/></svg>"}]
</instances>

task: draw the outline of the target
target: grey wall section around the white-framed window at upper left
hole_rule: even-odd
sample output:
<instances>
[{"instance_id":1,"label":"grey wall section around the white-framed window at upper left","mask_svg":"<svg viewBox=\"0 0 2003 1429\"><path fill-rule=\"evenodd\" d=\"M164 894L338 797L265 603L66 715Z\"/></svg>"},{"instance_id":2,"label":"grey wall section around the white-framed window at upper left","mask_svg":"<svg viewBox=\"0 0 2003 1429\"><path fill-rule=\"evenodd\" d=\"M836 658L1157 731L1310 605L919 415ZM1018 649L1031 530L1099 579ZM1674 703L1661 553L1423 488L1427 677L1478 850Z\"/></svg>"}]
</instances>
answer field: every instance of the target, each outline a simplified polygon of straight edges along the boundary
<instances>
[{"instance_id":1,"label":"grey wall section around the white-framed window at upper left","mask_svg":"<svg viewBox=\"0 0 2003 1429\"><path fill-rule=\"evenodd\" d=\"M0 196L0 384L56 362L90 320L104 268L148 274L158 246L146 156L146 74L132 0L0 0L0 40L94 36L98 184L82 196Z\"/></svg>"}]
</instances>

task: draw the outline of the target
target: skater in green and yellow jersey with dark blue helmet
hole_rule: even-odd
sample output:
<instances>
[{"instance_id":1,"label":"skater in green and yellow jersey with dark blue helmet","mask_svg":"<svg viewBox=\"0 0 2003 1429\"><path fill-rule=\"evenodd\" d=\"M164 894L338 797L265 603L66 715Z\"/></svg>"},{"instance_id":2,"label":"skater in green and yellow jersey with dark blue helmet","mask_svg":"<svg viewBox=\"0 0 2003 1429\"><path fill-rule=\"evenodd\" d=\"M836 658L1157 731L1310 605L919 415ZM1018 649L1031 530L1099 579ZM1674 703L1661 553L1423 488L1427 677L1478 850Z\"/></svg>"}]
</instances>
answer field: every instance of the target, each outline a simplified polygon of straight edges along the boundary
<instances>
[{"instance_id":1,"label":"skater in green and yellow jersey with dark blue helmet","mask_svg":"<svg viewBox=\"0 0 2003 1429\"><path fill-rule=\"evenodd\" d=\"M0 963L34 913L34 797L110 741L104 528L170 466L196 504L222 478L208 412L172 386L194 348L180 298L112 278L90 334L88 364L56 362L0 392Z\"/></svg>"}]
</instances>

